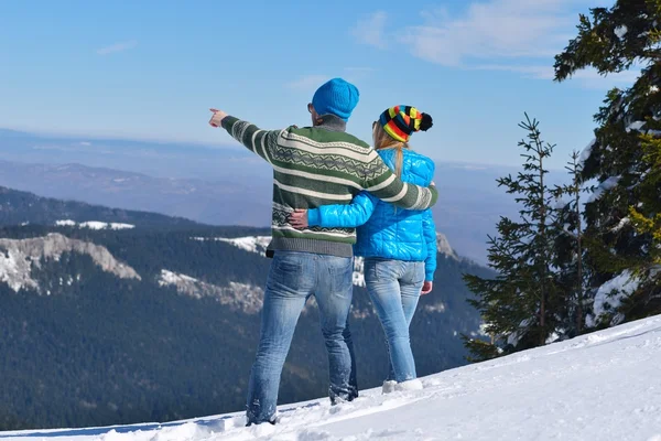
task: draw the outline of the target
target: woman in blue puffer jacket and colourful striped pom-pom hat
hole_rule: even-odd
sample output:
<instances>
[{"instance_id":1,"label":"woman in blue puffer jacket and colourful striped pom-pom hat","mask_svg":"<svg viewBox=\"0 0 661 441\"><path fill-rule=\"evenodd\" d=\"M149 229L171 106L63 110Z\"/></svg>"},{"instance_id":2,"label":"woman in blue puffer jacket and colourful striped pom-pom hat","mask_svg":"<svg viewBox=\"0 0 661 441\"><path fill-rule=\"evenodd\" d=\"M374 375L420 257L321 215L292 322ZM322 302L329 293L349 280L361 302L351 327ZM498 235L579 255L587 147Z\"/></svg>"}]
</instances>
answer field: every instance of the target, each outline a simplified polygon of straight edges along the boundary
<instances>
[{"instance_id":1,"label":"woman in blue puffer jacket and colourful striped pom-pom hat","mask_svg":"<svg viewBox=\"0 0 661 441\"><path fill-rule=\"evenodd\" d=\"M432 127L432 117L410 106L384 110L372 123L375 149L402 181L427 186L434 162L409 148L415 131ZM365 282L388 342L389 375L383 392L421 389L411 352L409 325L421 294L432 291L436 269L436 228L431 209L395 208L367 192L348 205L325 205L291 216L296 228L358 227L356 256L365 257Z\"/></svg>"}]
</instances>

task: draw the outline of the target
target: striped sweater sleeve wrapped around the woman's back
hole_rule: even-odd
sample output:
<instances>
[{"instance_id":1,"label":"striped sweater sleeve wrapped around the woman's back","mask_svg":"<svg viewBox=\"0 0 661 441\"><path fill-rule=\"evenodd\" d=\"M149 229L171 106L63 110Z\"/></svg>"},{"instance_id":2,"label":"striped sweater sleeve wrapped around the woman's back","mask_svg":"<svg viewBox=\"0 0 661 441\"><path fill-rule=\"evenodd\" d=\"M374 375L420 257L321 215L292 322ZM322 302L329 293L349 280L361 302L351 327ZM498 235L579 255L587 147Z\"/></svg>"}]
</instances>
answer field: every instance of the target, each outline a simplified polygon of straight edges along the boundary
<instances>
[{"instance_id":1,"label":"striped sweater sleeve wrapped around the woman's back","mask_svg":"<svg viewBox=\"0 0 661 441\"><path fill-rule=\"evenodd\" d=\"M422 187L399 179L376 151L372 151L366 164L364 190L383 202L407 209L430 208L438 198L434 185Z\"/></svg>"}]
</instances>

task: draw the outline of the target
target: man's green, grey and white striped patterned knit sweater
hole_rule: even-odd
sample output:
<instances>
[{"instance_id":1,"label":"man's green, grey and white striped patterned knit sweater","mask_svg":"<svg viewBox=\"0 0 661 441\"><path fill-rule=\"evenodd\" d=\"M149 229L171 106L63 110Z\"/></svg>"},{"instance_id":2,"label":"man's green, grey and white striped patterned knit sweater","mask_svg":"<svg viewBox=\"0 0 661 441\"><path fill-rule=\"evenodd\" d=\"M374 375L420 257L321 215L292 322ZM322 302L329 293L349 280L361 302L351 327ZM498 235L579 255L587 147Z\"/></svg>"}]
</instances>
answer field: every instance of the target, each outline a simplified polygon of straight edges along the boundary
<instances>
[{"instance_id":1,"label":"man's green, grey and white striped patterned knit sweater","mask_svg":"<svg viewBox=\"0 0 661 441\"><path fill-rule=\"evenodd\" d=\"M223 128L273 168L272 240L268 256L277 250L351 257L355 228L311 226L295 229L289 223L294 208L349 204L366 190L402 208L425 209L436 203L434 186L402 182L366 142L346 133L345 122L322 117L315 127L261 130L227 116Z\"/></svg>"}]
</instances>

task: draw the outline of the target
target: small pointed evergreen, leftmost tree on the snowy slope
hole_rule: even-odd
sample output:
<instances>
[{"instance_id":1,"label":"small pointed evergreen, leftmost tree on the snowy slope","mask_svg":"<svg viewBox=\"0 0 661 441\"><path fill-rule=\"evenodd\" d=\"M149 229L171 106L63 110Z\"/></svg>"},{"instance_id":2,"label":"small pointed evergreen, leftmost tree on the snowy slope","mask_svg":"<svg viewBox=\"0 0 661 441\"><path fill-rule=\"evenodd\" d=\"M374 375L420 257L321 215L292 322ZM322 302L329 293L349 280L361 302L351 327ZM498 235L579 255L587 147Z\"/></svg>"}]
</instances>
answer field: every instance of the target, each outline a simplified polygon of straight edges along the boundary
<instances>
[{"instance_id":1,"label":"small pointed evergreen, leftmost tree on the snowy slope","mask_svg":"<svg viewBox=\"0 0 661 441\"><path fill-rule=\"evenodd\" d=\"M469 302L479 310L485 331L492 337L492 343L464 337L473 354L470 361L543 345L559 323L560 295L553 271L555 213L544 169L554 146L542 141L539 122L528 115L519 127L528 131L519 142L524 149L523 171L497 182L516 195L520 219L501 217L498 237L489 237L489 266L498 276L464 278L478 295Z\"/></svg>"}]
</instances>

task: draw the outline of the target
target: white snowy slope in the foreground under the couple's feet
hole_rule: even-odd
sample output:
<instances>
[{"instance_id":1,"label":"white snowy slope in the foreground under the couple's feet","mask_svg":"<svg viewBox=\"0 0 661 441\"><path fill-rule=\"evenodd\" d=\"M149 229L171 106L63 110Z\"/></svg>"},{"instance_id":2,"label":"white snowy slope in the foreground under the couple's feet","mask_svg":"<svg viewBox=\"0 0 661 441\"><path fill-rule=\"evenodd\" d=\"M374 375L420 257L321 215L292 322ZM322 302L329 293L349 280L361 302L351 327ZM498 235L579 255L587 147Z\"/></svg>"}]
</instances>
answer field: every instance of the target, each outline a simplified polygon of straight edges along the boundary
<instances>
[{"instance_id":1,"label":"white snowy slope in the foreground under the couple's feet","mask_svg":"<svg viewBox=\"0 0 661 441\"><path fill-rule=\"evenodd\" d=\"M423 378L420 391L364 390L281 407L282 423L241 413L174 423L0 432L0 440L638 440L661 441L661 316Z\"/></svg>"}]
</instances>

